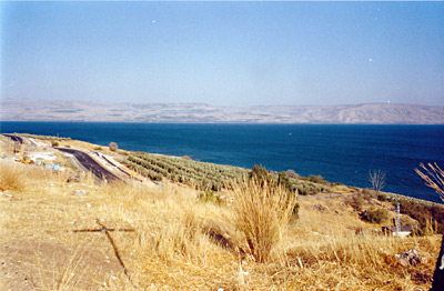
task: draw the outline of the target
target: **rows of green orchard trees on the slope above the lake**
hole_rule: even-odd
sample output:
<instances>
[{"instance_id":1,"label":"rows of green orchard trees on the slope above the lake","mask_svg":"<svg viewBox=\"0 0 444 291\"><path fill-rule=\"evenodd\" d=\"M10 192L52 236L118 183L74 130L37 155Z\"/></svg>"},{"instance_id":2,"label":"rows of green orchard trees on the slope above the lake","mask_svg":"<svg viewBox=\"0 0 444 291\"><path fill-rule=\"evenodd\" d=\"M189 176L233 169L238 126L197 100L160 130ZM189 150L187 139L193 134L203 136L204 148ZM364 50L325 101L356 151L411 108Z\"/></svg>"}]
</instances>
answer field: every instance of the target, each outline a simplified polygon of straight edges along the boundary
<instances>
[{"instance_id":1,"label":"rows of green orchard trees on the slope above the lake","mask_svg":"<svg viewBox=\"0 0 444 291\"><path fill-rule=\"evenodd\" d=\"M186 158L144 152L130 153L124 164L154 181L167 178L173 182L219 191L248 177L249 170L232 165L199 162Z\"/></svg>"}]
</instances>

